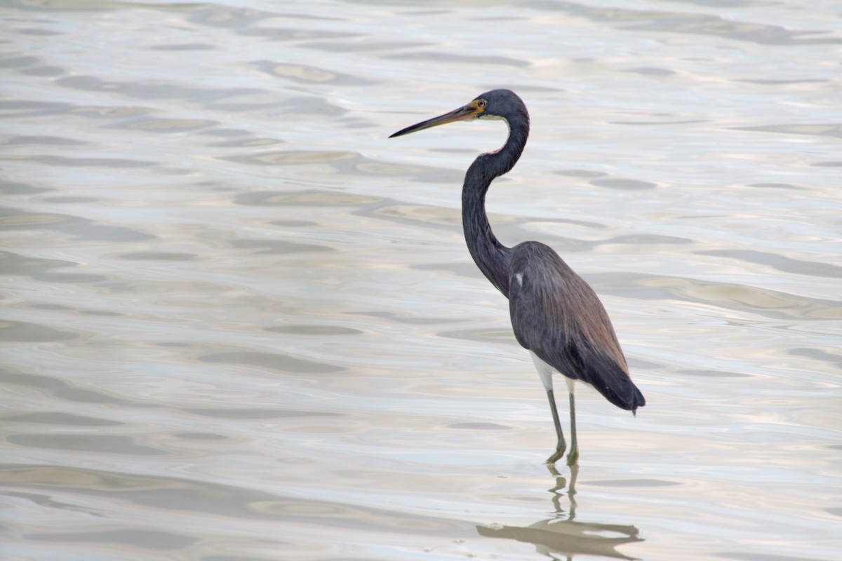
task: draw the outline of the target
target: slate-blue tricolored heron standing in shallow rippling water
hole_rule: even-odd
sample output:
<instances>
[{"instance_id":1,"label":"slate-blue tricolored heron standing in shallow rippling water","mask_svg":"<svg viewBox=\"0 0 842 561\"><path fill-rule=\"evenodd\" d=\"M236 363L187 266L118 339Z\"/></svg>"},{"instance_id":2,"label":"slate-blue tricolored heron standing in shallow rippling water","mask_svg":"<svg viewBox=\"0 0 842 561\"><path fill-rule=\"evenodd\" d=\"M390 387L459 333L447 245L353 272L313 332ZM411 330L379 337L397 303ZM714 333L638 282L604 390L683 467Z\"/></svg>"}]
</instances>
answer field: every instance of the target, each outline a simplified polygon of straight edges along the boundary
<instances>
[{"instance_id":1,"label":"slate-blue tricolored heron standing in shallow rippling water","mask_svg":"<svg viewBox=\"0 0 842 561\"><path fill-rule=\"evenodd\" d=\"M514 336L530 351L546 389L558 437L556 451L546 463L556 463L567 448L552 392L552 374L565 376L570 395L568 465L573 465L578 461L574 381L594 386L606 400L632 413L646 400L632 383L614 327L594 289L550 246L525 241L506 247L488 223L488 187L514 167L529 136L529 113L517 94L506 89L483 93L467 105L398 130L389 138L473 119L504 120L509 138L498 151L477 156L465 174L462 226L468 251L482 274L509 299Z\"/></svg>"}]
</instances>

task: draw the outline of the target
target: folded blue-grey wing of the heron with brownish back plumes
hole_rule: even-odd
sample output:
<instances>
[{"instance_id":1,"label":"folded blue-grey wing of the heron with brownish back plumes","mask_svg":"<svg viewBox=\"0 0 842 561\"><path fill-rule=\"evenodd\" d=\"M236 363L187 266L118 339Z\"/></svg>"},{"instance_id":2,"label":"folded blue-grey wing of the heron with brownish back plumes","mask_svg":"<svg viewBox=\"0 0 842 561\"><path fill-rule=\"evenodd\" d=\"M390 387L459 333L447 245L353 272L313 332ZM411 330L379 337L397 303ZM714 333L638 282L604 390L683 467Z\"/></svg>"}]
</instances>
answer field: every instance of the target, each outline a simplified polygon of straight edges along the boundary
<instances>
[{"instance_id":1,"label":"folded blue-grey wing of the heron with brownish back plumes","mask_svg":"<svg viewBox=\"0 0 842 561\"><path fill-rule=\"evenodd\" d=\"M545 363L622 409L643 405L600 299L551 247L512 248L509 310L518 342Z\"/></svg>"}]
</instances>

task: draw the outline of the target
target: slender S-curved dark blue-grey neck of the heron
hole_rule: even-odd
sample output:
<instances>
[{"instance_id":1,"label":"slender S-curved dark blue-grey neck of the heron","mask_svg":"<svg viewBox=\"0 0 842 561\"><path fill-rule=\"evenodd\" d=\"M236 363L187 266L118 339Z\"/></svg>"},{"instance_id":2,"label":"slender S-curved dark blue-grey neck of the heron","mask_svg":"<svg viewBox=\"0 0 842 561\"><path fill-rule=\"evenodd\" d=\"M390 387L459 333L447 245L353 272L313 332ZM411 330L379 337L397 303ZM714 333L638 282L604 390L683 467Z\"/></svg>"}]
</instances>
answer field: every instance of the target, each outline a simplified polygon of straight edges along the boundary
<instances>
[{"instance_id":1,"label":"slender S-curved dark blue-grey neck of the heron","mask_svg":"<svg viewBox=\"0 0 842 561\"><path fill-rule=\"evenodd\" d=\"M485 194L495 177L514 167L529 136L529 114L515 114L506 121L509 138L498 151L481 154L468 167L462 186L462 227L468 251L482 274L509 297L509 247L501 244L491 230L485 211Z\"/></svg>"}]
</instances>

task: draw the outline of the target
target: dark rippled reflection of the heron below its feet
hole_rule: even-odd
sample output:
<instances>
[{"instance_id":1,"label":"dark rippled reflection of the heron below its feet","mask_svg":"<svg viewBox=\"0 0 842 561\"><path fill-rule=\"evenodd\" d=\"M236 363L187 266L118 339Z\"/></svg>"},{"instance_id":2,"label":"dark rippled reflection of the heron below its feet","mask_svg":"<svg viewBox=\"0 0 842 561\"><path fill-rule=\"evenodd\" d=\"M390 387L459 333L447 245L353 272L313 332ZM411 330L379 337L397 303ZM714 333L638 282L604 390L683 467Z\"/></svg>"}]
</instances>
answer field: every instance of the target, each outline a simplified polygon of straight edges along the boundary
<instances>
[{"instance_id":1,"label":"dark rippled reflection of the heron below its feet","mask_svg":"<svg viewBox=\"0 0 842 561\"><path fill-rule=\"evenodd\" d=\"M538 553L558 559L562 554L572 559L577 554L598 555L616 559L633 559L616 551L624 543L642 542L637 537L637 527L620 524L600 524L599 522L574 521L576 518L576 477L578 466L570 468L570 485L559 474L555 466L548 465L550 473L556 478L552 493L552 505L556 515L547 520L537 521L526 527L520 526L477 526L477 532L485 537L503 537L518 542L534 543ZM570 510L565 514L562 509L563 490L568 487L567 497Z\"/></svg>"}]
</instances>

